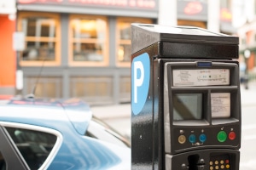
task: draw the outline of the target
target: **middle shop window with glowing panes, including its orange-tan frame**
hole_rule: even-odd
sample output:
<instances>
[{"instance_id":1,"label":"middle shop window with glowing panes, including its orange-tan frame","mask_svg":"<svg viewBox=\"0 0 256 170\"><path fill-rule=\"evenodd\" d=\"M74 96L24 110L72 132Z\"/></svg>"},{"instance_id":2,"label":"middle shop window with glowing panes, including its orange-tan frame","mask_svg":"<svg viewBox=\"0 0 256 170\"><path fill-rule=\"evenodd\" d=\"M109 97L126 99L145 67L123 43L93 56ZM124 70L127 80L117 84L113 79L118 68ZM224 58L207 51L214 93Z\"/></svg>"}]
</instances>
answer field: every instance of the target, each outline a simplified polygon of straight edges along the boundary
<instances>
[{"instance_id":1,"label":"middle shop window with glowing panes, including its orange-tan frame","mask_svg":"<svg viewBox=\"0 0 256 170\"><path fill-rule=\"evenodd\" d=\"M106 18L71 15L70 29L69 62L71 65L108 65Z\"/></svg>"}]
</instances>

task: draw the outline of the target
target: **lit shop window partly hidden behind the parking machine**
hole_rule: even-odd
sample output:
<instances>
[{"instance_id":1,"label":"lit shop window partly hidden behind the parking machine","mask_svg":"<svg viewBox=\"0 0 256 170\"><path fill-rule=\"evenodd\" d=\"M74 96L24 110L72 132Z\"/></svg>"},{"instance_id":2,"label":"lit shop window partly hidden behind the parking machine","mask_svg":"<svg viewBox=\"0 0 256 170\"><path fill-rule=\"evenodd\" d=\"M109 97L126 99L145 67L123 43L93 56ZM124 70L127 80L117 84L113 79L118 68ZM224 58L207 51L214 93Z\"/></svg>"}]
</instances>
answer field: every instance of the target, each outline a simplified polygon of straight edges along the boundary
<instances>
[{"instance_id":1,"label":"lit shop window partly hidden behind the parking machine","mask_svg":"<svg viewBox=\"0 0 256 170\"><path fill-rule=\"evenodd\" d=\"M117 20L117 65L131 65L131 23L151 24L152 20L119 18Z\"/></svg>"}]
</instances>

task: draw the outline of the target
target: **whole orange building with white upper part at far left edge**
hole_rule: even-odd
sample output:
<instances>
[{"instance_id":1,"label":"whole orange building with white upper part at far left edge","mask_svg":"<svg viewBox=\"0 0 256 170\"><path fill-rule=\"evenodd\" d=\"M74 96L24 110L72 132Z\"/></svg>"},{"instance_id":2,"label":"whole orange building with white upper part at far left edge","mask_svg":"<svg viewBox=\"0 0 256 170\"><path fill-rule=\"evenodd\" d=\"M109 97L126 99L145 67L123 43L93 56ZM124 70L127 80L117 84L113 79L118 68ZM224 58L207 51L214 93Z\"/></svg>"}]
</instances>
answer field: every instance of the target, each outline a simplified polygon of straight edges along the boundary
<instances>
[{"instance_id":1,"label":"whole orange building with white upper part at far left edge","mask_svg":"<svg viewBox=\"0 0 256 170\"><path fill-rule=\"evenodd\" d=\"M0 1L0 98L15 94L16 57L13 49L15 0Z\"/></svg>"}]
</instances>

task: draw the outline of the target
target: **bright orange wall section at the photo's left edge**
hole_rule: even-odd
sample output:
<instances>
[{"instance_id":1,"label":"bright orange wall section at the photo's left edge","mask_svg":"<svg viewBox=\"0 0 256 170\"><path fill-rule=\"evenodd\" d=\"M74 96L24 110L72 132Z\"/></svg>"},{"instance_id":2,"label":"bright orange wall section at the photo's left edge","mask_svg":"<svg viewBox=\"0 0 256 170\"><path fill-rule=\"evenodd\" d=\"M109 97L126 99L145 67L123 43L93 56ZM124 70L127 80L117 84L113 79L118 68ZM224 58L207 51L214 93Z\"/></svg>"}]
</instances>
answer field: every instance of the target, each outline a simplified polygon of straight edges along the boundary
<instances>
[{"instance_id":1,"label":"bright orange wall section at the photo's left edge","mask_svg":"<svg viewBox=\"0 0 256 170\"><path fill-rule=\"evenodd\" d=\"M15 87L14 31L15 20L9 20L8 15L0 15L0 87Z\"/></svg>"}]
</instances>

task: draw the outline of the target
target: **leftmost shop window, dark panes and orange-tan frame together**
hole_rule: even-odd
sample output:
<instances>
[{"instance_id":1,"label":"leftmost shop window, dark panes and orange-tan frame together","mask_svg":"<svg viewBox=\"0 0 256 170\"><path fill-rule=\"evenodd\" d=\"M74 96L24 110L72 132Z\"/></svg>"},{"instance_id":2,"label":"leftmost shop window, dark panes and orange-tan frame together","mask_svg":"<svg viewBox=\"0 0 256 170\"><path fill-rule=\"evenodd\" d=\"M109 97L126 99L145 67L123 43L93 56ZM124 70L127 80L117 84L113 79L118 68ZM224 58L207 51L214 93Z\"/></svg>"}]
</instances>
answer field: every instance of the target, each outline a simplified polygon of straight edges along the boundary
<instances>
[{"instance_id":1,"label":"leftmost shop window, dark panes and orange-tan frame together","mask_svg":"<svg viewBox=\"0 0 256 170\"><path fill-rule=\"evenodd\" d=\"M20 13L18 31L25 34L25 50L20 54L20 65L60 65L59 15Z\"/></svg>"}]
</instances>

